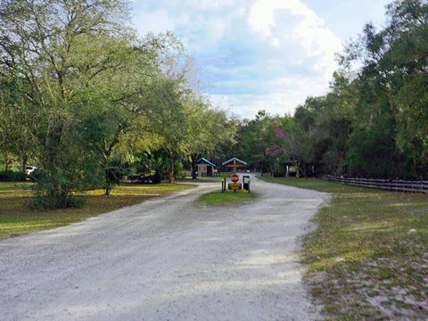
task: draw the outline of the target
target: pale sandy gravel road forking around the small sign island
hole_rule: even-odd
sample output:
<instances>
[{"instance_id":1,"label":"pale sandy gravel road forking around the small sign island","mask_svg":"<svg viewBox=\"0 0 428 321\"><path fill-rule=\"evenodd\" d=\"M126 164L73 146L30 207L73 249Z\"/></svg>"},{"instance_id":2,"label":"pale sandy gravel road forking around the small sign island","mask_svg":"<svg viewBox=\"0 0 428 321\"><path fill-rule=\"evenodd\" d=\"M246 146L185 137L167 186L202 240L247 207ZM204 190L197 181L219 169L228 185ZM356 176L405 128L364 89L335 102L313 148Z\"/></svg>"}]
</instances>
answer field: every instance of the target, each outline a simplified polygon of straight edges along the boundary
<instances>
[{"instance_id":1,"label":"pale sandy gravel road forking around the small sign island","mask_svg":"<svg viewBox=\"0 0 428 321\"><path fill-rule=\"evenodd\" d=\"M325 194L252 180L236 208L174 196L0 243L1 320L306 320L296 251Z\"/></svg>"}]
</instances>

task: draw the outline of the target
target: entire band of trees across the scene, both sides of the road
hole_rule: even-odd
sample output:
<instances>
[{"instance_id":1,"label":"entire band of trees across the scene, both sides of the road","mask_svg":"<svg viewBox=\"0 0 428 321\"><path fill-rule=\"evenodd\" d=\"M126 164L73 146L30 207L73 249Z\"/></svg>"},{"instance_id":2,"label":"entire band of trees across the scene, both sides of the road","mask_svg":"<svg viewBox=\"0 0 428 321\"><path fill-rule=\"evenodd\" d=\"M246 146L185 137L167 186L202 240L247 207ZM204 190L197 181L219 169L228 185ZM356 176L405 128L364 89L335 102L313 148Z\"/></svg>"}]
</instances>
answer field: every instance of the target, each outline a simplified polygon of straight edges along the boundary
<instances>
[{"instance_id":1,"label":"entire band of trees across the scene, both sides of the road","mask_svg":"<svg viewBox=\"0 0 428 321\"><path fill-rule=\"evenodd\" d=\"M315 166L427 177L428 4L395 1L387 14L383 29L366 25L342 53L327 95L309 97L293 117L259 111L239 121L190 88L174 36L136 37L127 2L4 1L4 169L36 165L37 197L53 206L98 187L111 193L128 175L172 181L179 164L194 168L201 157L236 156L278 175L291 163L304 176Z\"/></svg>"}]
</instances>

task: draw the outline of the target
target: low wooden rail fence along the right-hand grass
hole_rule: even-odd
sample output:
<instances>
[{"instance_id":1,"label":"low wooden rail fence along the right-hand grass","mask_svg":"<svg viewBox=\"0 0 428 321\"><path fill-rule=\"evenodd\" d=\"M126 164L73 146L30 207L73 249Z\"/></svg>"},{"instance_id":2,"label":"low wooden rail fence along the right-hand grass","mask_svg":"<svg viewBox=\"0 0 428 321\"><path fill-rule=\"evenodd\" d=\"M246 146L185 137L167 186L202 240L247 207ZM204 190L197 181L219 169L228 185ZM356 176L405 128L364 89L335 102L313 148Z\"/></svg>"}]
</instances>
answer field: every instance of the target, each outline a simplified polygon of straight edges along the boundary
<instances>
[{"instance_id":1,"label":"low wooden rail fence along the right-hand grass","mask_svg":"<svg viewBox=\"0 0 428 321\"><path fill-rule=\"evenodd\" d=\"M428 181L406 181L389 179L351 178L323 175L323 179L329 182L345 185L355 185L368 188L383 189L392 192L428 193Z\"/></svg>"}]
</instances>

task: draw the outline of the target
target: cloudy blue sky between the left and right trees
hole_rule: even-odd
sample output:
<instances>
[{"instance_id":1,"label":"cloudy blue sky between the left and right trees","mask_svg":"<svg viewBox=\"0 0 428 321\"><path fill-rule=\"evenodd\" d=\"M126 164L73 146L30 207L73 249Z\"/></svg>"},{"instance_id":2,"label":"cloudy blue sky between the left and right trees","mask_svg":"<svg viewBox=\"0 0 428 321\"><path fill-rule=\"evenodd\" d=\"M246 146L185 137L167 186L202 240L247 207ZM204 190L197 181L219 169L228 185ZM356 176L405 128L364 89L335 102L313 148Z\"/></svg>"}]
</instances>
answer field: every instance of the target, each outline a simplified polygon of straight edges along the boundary
<instances>
[{"instance_id":1,"label":"cloudy blue sky between the left and right trees","mask_svg":"<svg viewBox=\"0 0 428 321\"><path fill-rule=\"evenodd\" d=\"M385 23L391 0L134 0L136 29L173 31L201 90L242 118L292 113L328 90L334 53L364 24Z\"/></svg>"}]
</instances>

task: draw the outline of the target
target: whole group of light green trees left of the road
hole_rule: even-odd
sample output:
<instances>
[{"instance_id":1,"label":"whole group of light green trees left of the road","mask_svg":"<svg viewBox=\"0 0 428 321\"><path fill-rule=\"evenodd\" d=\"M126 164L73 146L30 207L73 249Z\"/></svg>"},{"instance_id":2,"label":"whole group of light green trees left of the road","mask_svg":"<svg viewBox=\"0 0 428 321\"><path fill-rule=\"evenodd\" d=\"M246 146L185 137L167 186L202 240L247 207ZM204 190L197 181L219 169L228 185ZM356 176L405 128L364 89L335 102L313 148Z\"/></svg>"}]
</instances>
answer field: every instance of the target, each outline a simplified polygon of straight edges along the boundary
<instances>
[{"instance_id":1,"label":"whole group of light green trees left of the road","mask_svg":"<svg viewBox=\"0 0 428 321\"><path fill-rule=\"evenodd\" d=\"M0 4L0 152L6 168L16 159L40 169L37 206L111 193L142 151L163 149L147 171L163 176L168 164L172 180L202 123L193 114L215 112L170 68L177 39L138 38L127 19L122 0Z\"/></svg>"}]
</instances>

